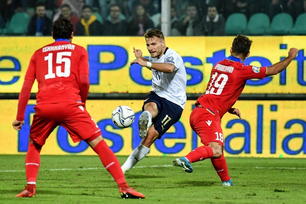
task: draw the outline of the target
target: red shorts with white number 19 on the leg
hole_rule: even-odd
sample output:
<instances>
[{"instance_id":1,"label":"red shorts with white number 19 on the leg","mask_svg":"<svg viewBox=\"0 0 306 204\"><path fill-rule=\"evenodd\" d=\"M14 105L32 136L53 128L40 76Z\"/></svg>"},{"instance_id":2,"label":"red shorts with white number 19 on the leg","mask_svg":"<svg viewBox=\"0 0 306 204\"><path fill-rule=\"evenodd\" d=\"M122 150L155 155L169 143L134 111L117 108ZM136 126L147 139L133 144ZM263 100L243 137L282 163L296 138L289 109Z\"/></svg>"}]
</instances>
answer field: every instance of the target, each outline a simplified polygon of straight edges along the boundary
<instances>
[{"instance_id":1,"label":"red shorts with white number 19 on the leg","mask_svg":"<svg viewBox=\"0 0 306 204\"><path fill-rule=\"evenodd\" d=\"M196 107L190 114L190 126L201 138L203 145L218 143L223 147L223 132L220 116L206 108Z\"/></svg>"}]
</instances>

